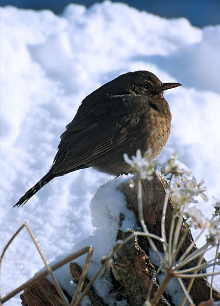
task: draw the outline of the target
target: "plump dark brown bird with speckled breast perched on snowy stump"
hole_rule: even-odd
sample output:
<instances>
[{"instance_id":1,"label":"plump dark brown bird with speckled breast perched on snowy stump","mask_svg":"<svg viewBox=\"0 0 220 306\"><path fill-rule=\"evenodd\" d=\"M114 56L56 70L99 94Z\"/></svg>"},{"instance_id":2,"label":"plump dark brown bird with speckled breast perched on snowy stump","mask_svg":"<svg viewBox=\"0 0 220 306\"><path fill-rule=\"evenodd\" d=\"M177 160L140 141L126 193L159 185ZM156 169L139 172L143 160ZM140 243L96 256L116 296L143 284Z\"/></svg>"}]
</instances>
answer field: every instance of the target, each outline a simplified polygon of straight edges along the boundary
<instances>
[{"instance_id":1,"label":"plump dark brown bird with speckled breast perched on snowy stump","mask_svg":"<svg viewBox=\"0 0 220 306\"><path fill-rule=\"evenodd\" d=\"M132 173L123 155L156 159L170 133L171 114L163 91L181 86L162 83L154 73L139 70L119 75L86 96L65 132L50 170L13 207L24 205L57 176L93 167L111 175Z\"/></svg>"}]
</instances>

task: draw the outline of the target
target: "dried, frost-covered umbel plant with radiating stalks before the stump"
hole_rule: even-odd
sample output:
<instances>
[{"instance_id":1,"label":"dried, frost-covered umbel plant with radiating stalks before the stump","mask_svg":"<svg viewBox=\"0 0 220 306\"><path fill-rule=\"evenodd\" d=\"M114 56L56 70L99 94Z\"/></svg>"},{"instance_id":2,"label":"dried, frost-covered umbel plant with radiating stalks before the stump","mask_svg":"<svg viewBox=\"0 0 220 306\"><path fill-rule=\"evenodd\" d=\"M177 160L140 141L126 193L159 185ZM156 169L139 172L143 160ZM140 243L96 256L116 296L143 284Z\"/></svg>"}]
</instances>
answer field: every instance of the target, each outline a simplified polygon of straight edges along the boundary
<instances>
[{"instance_id":1,"label":"dried, frost-covered umbel plant with radiating stalks before the stump","mask_svg":"<svg viewBox=\"0 0 220 306\"><path fill-rule=\"evenodd\" d=\"M142 185L141 179L148 178L146 172L143 171L143 165L145 168L151 168L147 161L143 161L143 158L140 155L140 151L137 151L137 156L132 157L132 160L128 159L128 156L125 156L125 161L129 163L131 167L136 171L138 178L138 209L139 209L139 220L141 226L143 228L143 232L146 232L146 225L143 219L142 212ZM141 161L141 163L139 162ZM144 169L145 169L144 168ZM220 240L220 231L219 231L219 215L220 215L220 203L217 202L214 206L215 213L210 220L204 221L204 217L199 209L192 207L192 203L197 203L197 197L200 196L204 201L207 201L207 196L204 194L206 191L206 187L203 186L204 182L200 181L199 183L193 176L191 176L191 172L183 169L177 161L177 155L173 155L166 163L164 167L162 167L161 172L166 176L168 180L168 188L167 194L164 199L164 207L161 219L161 235L163 239L163 249L164 249L164 258L161 260L161 254L157 250L156 253L160 254L160 263L162 266L159 267L160 270L165 269L165 276L160 284L158 291L156 292L154 298L151 301L151 304L157 305L159 302L160 296L163 294L166 289L170 279L176 277L180 283L181 288L189 302L193 305L193 302L188 294L191 285L193 283L193 279L195 277L204 277L207 275L216 275L218 272L214 272L214 267L218 264L217 256L215 259L209 261L208 263L202 264L202 259L204 253L211 249L212 247L219 245ZM144 174L143 174L144 173ZM150 174L151 177L152 173ZM175 208L173 211L172 222L170 224L169 231L169 240L167 244L166 234L165 234L165 216L167 209L167 201L168 196L170 196L174 202ZM195 238L193 242L188 246L185 252L182 254L180 259L177 260L178 253L180 251L181 245L184 243L184 240L187 235L187 231L184 233L181 239L180 230L182 224L183 216L188 218L189 225L194 226L195 228L200 228L199 235ZM175 225L176 218L178 218L177 224ZM204 231L208 229L209 235L207 237L207 241L203 247L193 250L195 242L199 239L199 237L204 233ZM155 246L156 248L156 246ZM196 266L191 268L186 268L184 270L180 270L180 268L189 264L194 259L199 258L199 262ZM207 267L213 267L212 273L200 273L197 274L198 271L206 269ZM191 272L191 274L188 274ZM155 276L154 276L155 277ZM191 278L190 286L186 289L183 282L181 281L181 277ZM149 291L148 299L145 304L149 304L149 296L151 290ZM182 303L183 304L183 303Z\"/></svg>"}]
</instances>

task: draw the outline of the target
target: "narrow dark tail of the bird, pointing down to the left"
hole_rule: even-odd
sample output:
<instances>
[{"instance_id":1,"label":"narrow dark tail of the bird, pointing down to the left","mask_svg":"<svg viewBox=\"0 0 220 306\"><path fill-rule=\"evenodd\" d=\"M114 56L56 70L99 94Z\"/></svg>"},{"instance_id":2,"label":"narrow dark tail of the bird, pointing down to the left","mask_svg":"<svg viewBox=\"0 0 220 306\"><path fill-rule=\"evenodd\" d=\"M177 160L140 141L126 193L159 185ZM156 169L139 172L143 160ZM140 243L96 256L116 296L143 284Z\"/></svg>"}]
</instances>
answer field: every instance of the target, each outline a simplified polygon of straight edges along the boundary
<instances>
[{"instance_id":1,"label":"narrow dark tail of the bird, pointing down to the left","mask_svg":"<svg viewBox=\"0 0 220 306\"><path fill-rule=\"evenodd\" d=\"M37 184L30 188L13 207L24 205L36 192L38 192L43 186L53 180L55 176L56 175L52 171L46 173L46 175L44 175L42 179L37 182Z\"/></svg>"}]
</instances>

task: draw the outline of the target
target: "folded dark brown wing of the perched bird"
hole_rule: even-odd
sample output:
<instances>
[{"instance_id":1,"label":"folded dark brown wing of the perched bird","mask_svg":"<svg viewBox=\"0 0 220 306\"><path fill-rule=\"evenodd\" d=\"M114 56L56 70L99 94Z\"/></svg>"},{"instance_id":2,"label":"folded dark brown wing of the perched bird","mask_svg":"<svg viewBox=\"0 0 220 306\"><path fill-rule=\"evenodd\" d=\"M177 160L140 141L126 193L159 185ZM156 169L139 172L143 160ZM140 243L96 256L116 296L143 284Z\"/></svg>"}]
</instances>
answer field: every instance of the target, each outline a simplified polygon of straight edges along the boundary
<instances>
[{"instance_id":1,"label":"folded dark brown wing of the perched bird","mask_svg":"<svg viewBox=\"0 0 220 306\"><path fill-rule=\"evenodd\" d=\"M81 107L61 135L52 166L57 175L82 168L130 140L142 125L149 100L142 95L105 95L99 97L99 103L93 101L88 107Z\"/></svg>"}]
</instances>

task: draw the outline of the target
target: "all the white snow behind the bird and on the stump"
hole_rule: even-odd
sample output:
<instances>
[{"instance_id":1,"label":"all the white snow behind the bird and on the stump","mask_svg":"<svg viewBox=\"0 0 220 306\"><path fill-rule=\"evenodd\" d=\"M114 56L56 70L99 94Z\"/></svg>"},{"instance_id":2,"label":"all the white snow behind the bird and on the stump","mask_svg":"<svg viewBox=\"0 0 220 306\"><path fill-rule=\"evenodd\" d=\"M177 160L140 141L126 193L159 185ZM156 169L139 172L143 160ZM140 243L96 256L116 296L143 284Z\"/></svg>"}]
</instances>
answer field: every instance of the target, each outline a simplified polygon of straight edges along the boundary
<instances>
[{"instance_id":1,"label":"all the white snow behind the bird and on the stump","mask_svg":"<svg viewBox=\"0 0 220 306\"><path fill-rule=\"evenodd\" d=\"M70 4L62 16L1 8L0 251L27 221L49 262L90 244L97 267L108 255L119 213L126 214L115 186L127 177L114 181L93 169L79 170L54 179L22 208L12 206L50 168L59 136L82 99L128 71L149 70L164 83L183 84L164 93L172 130L159 161L177 152L205 181L209 201L201 209L210 217L220 183L219 46L219 25L199 29L185 18L165 19L110 1L91 8ZM123 228L134 227L132 214L126 216ZM23 230L4 258L2 296L42 266ZM68 287L65 269L61 282ZM109 283L102 284L97 290L111 304ZM6 303L19 304L19 294Z\"/></svg>"}]
</instances>

